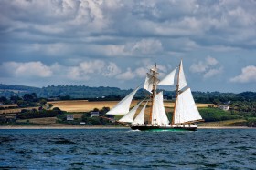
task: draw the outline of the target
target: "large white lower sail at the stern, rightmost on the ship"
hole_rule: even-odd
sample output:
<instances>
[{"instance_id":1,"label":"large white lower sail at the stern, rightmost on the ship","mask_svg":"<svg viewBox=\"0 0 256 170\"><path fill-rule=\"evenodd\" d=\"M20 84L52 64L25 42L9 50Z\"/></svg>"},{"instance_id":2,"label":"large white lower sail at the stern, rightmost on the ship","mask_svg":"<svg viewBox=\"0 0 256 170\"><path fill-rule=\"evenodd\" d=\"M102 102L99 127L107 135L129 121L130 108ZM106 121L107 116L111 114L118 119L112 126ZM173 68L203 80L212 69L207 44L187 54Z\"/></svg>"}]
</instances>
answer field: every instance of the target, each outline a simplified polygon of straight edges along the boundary
<instances>
[{"instance_id":1,"label":"large white lower sail at the stern, rightmost on the ship","mask_svg":"<svg viewBox=\"0 0 256 170\"><path fill-rule=\"evenodd\" d=\"M197 105L193 99L190 88L176 98L175 124L181 124L190 121L202 119L197 110Z\"/></svg>"}]
</instances>

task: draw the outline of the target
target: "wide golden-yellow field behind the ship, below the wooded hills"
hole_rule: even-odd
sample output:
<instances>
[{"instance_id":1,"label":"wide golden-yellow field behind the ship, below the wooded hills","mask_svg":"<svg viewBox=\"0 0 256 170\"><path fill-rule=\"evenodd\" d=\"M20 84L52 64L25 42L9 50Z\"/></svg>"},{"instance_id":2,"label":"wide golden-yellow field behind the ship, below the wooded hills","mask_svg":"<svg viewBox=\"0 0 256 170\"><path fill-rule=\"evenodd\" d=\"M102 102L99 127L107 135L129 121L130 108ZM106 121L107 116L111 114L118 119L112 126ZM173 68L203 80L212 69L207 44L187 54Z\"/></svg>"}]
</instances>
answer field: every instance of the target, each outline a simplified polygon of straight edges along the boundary
<instances>
[{"instance_id":1,"label":"wide golden-yellow field behind the ship, below the wooded hills","mask_svg":"<svg viewBox=\"0 0 256 170\"><path fill-rule=\"evenodd\" d=\"M134 100L131 106L134 106L139 101ZM59 107L63 111L67 112L88 112L93 110L94 108L101 109L102 107L110 107L112 108L114 105L118 103L118 101L97 101L97 102L89 102L87 100L69 100L69 101L54 101L48 102L52 104L53 107ZM207 107L211 104L197 104L197 107ZM165 107L173 108L174 103L165 102Z\"/></svg>"}]
</instances>

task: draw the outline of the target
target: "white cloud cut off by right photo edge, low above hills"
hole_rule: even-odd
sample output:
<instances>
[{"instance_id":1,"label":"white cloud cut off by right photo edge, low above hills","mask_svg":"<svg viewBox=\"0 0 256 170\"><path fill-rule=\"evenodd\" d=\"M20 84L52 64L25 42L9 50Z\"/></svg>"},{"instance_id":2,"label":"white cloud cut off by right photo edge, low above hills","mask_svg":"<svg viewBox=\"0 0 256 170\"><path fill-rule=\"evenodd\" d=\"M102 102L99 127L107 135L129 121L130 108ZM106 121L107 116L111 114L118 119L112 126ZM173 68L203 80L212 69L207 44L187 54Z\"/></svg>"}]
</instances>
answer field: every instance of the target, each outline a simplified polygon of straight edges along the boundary
<instances>
[{"instance_id":1,"label":"white cloud cut off by right photo edge, low above hills","mask_svg":"<svg viewBox=\"0 0 256 170\"><path fill-rule=\"evenodd\" d=\"M230 79L234 83L256 82L256 66L249 65L241 69L241 74Z\"/></svg>"}]
</instances>

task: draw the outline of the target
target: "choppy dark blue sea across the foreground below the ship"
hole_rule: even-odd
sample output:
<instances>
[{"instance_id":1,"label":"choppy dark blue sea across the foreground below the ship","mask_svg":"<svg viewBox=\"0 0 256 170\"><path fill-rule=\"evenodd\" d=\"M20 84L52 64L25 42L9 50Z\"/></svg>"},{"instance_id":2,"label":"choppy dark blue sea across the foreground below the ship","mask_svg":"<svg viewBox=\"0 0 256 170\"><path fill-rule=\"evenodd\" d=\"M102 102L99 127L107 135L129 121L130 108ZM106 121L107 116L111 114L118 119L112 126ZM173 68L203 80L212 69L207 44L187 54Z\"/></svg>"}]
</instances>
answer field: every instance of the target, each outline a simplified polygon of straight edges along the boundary
<instances>
[{"instance_id":1,"label":"choppy dark blue sea across the foreground below the ship","mask_svg":"<svg viewBox=\"0 0 256 170\"><path fill-rule=\"evenodd\" d=\"M0 169L256 169L256 129L1 129L0 146Z\"/></svg>"}]
</instances>

